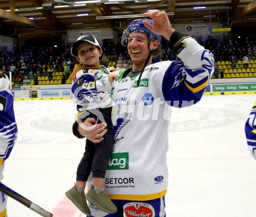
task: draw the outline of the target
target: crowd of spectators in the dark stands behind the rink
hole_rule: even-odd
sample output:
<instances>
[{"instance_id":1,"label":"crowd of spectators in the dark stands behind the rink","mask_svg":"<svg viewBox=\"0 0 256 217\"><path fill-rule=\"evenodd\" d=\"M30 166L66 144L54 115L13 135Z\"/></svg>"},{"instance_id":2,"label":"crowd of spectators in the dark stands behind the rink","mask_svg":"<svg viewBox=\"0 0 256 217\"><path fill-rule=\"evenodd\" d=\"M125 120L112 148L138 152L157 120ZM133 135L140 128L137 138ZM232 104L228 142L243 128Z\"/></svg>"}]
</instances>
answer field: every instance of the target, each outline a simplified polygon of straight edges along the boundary
<instances>
[{"instance_id":1,"label":"crowd of spectators in the dark stands behind the rink","mask_svg":"<svg viewBox=\"0 0 256 217\"><path fill-rule=\"evenodd\" d=\"M256 55L255 34L233 34L232 37L224 37L223 41L208 37L200 44L213 52L215 61L230 61L234 65L239 60L250 61ZM119 56L126 63L130 63L127 49L120 44L120 38L104 40L103 54L102 65L108 66L109 62L117 62ZM162 41L161 55L154 57L153 62L176 59L166 42ZM76 58L70 53L70 45L28 45L16 52L0 51L0 70L8 75L12 72L13 81L19 85L22 85L24 79L33 80L37 76L48 76L52 79L52 72L62 72L62 83L66 83L76 63Z\"/></svg>"}]
</instances>

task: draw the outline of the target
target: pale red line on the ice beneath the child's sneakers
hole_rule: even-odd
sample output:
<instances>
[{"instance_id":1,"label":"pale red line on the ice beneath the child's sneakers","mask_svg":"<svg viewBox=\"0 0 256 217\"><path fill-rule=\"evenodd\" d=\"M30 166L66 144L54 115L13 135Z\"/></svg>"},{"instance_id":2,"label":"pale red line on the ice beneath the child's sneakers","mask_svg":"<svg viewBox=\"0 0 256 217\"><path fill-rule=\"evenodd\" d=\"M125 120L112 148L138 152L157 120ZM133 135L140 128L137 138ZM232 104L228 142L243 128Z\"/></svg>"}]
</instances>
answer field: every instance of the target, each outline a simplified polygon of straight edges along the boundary
<instances>
[{"instance_id":1,"label":"pale red line on the ice beneath the child's sneakers","mask_svg":"<svg viewBox=\"0 0 256 217\"><path fill-rule=\"evenodd\" d=\"M52 210L52 217L81 217L82 215L66 196Z\"/></svg>"}]
</instances>

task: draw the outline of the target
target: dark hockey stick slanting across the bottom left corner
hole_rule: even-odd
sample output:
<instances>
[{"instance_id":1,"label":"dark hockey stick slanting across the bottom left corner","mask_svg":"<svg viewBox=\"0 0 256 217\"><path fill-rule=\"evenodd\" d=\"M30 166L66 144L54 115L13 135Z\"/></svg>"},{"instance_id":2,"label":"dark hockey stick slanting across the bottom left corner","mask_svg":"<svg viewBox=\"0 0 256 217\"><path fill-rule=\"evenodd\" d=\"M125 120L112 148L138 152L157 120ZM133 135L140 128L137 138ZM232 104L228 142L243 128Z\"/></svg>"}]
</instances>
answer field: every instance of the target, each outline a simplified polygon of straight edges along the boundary
<instances>
[{"instance_id":1,"label":"dark hockey stick slanting across the bottom left corner","mask_svg":"<svg viewBox=\"0 0 256 217\"><path fill-rule=\"evenodd\" d=\"M44 216L44 217L52 217L51 212L46 211L45 209L39 207L34 202L31 202L27 198L23 197L22 195L18 194L16 191L13 191L9 187L5 186L3 183L0 183L0 191L8 195L9 197L13 198L14 200L20 202L21 204L25 205L26 207L32 209L37 214Z\"/></svg>"}]
</instances>

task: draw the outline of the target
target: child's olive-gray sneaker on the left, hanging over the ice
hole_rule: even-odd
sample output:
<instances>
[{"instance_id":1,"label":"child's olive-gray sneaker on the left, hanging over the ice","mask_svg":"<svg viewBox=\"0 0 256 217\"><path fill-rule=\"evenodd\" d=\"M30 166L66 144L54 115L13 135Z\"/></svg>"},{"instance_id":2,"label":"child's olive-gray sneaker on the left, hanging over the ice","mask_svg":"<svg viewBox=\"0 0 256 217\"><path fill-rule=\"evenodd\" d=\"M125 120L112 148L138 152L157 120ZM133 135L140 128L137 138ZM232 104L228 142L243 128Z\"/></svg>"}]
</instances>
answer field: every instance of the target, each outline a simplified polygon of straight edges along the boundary
<instances>
[{"instance_id":1,"label":"child's olive-gray sneaker on the left, hanging over the ice","mask_svg":"<svg viewBox=\"0 0 256 217\"><path fill-rule=\"evenodd\" d=\"M76 207L86 215L91 215L91 211L86 202L86 196L84 192L79 192L76 189L76 186L70 188L68 191L65 192L67 198L73 202Z\"/></svg>"}]
</instances>

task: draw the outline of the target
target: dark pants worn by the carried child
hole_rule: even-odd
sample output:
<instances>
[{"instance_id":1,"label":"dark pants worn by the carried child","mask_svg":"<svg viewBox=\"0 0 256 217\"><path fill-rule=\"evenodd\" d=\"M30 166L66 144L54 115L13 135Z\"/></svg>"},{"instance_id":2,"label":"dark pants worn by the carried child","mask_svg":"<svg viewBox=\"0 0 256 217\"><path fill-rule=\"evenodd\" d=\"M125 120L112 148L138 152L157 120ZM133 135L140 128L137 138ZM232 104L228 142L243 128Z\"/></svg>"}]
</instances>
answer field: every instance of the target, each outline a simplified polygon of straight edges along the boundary
<instances>
[{"instance_id":1,"label":"dark pants worn by the carried child","mask_svg":"<svg viewBox=\"0 0 256 217\"><path fill-rule=\"evenodd\" d=\"M108 124L106 127L108 131L104 135L104 140L101 141L101 143L92 143L90 140L86 140L86 151L84 152L84 156L81 159L76 172L77 181L87 181L91 171L93 172L93 177L105 177L106 167L108 166L114 144L111 109L112 108L99 109L105 122ZM97 116L91 112L86 118L98 119ZM101 121L98 120L98 123L101 123Z\"/></svg>"}]
</instances>

